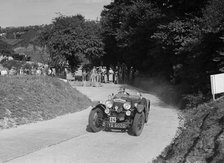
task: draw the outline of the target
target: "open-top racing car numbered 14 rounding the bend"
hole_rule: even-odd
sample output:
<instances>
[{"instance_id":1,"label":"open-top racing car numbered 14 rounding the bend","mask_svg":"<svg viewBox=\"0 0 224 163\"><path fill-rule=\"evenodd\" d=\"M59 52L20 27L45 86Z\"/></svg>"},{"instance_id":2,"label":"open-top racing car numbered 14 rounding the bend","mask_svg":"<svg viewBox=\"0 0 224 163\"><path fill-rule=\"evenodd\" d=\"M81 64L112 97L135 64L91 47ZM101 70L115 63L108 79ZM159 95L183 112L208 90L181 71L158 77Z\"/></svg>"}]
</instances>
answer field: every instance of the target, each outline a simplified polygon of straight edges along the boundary
<instances>
[{"instance_id":1,"label":"open-top racing car numbered 14 rounding the bend","mask_svg":"<svg viewBox=\"0 0 224 163\"><path fill-rule=\"evenodd\" d=\"M148 121L150 101L141 94L130 95L122 88L104 103L92 108L89 114L89 127L93 132L101 130L128 130L139 136Z\"/></svg>"}]
</instances>

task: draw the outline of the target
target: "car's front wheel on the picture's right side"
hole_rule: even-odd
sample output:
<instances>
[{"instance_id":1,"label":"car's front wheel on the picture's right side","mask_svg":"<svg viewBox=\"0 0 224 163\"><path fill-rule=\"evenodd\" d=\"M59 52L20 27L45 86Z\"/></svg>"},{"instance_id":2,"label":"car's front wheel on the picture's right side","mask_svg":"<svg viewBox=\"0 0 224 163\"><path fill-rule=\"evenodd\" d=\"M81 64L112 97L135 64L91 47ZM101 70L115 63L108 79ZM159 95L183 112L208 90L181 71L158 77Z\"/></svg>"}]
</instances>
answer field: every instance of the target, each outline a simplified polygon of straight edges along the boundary
<instances>
[{"instance_id":1,"label":"car's front wheel on the picture's right side","mask_svg":"<svg viewBox=\"0 0 224 163\"><path fill-rule=\"evenodd\" d=\"M134 117L134 121L131 127L132 134L134 136L139 136L142 133L145 124L145 114L144 112L136 113Z\"/></svg>"}]
</instances>

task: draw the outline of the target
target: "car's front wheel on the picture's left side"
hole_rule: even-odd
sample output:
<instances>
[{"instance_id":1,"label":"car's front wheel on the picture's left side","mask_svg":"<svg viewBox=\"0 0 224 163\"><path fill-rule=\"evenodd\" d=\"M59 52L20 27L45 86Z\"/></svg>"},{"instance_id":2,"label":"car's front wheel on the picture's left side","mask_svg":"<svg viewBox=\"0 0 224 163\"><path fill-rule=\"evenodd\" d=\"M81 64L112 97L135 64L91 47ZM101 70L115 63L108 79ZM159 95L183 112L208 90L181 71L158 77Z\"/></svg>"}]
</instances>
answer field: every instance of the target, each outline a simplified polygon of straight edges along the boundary
<instances>
[{"instance_id":1,"label":"car's front wheel on the picture's left side","mask_svg":"<svg viewBox=\"0 0 224 163\"><path fill-rule=\"evenodd\" d=\"M89 114L89 127L93 132L103 130L104 112L100 108L91 110Z\"/></svg>"}]
</instances>

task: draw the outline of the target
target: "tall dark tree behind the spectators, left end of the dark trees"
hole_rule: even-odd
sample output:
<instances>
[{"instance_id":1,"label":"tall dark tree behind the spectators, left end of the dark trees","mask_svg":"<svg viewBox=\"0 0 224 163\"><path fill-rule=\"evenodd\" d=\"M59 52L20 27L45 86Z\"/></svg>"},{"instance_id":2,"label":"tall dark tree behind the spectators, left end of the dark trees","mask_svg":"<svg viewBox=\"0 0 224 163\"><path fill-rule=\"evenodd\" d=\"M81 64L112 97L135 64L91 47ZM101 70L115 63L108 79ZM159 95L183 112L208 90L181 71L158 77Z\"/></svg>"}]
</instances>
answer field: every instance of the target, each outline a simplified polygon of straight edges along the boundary
<instances>
[{"instance_id":1,"label":"tall dark tree behind the spectators, left end of the dark trees","mask_svg":"<svg viewBox=\"0 0 224 163\"><path fill-rule=\"evenodd\" d=\"M130 69L147 70L151 62L150 37L162 18L159 9L150 2L115 1L102 12L104 62L117 66L125 63ZM109 62L108 62L109 61Z\"/></svg>"}]
</instances>

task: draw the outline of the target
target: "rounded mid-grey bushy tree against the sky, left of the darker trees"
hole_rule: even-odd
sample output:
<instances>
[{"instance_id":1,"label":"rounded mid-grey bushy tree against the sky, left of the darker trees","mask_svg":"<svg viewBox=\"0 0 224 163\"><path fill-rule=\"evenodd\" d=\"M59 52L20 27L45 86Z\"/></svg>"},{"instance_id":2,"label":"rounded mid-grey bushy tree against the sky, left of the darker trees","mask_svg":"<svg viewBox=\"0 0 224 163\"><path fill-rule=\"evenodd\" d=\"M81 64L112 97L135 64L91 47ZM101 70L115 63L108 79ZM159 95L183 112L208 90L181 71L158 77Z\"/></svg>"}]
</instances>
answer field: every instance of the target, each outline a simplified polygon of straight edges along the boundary
<instances>
[{"instance_id":1,"label":"rounded mid-grey bushy tree against the sky, left of the darker trees","mask_svg":"<svg viewBox=\"0 0 224 163\"><path fill-rule=\"evenodd\" d=\"M81 15L60 15L45 27L40 40L48 47L52 66L57 69L69 66L75 71L84 61L95 63L102 56L99 30L98 22L85 21Z\"/></svg>"}]
</instances>

